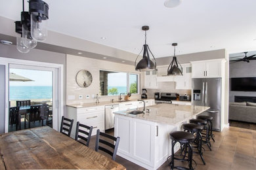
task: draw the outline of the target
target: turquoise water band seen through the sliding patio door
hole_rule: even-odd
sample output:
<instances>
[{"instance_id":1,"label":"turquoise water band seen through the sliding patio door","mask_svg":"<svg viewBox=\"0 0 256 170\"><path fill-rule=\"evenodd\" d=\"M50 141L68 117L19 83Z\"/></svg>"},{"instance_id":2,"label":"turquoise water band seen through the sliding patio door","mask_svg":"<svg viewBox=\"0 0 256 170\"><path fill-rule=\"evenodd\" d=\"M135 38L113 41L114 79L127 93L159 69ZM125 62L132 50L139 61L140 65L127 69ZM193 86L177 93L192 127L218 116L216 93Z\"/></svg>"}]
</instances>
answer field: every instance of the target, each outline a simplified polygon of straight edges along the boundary
<instances>
[{"instance_id":1,"label":"turquoise water band seen through the sliding patio door","mask_svg":"<svg viewBox=\"0 0 256 170\"><path fill-rule=\"evenodd\" d=\"M52 86L10 86L10 100L52 99Z\"/></svg>"}]
</instances>

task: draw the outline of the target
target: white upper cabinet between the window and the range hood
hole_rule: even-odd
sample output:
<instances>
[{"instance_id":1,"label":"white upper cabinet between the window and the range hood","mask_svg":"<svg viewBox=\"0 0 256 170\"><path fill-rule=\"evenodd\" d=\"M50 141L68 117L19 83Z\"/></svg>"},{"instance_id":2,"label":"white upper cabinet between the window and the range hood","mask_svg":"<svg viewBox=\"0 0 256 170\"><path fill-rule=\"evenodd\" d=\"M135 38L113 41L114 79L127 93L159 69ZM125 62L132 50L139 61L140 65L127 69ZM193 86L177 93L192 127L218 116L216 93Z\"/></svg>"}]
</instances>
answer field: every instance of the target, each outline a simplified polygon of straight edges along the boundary
<instances>
[{"instance_id":1,"label":"white upper cabinet between the window and the range hood","mask_svg":"<svg viewBox=\"0 0 256 170\"><path fill-rule=\"evenodd\" d=\"M158 71L146 71L144 77L144 88L158 88Z\"/></svg>"}]
</instances>

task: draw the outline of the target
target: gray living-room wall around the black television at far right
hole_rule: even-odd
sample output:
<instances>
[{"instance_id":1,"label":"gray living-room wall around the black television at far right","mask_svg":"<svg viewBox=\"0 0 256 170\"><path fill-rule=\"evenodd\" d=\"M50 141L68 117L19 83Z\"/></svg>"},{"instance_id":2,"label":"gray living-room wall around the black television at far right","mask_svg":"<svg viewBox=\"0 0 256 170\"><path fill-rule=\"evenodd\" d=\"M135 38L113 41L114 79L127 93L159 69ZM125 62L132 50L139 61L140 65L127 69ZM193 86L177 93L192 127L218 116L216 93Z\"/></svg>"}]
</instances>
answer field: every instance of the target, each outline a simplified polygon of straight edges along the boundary
<instances>
[{"instance_id":1,"label":"gray living-room wall around the black television at far right","mask_svg":"<svg viewBox=\"0 0 256 170\"><path fill-rule=\"evenodd\" d=\"M250 61L249 63L240 61L237 63L230 63L229 65L229 77L256 77L256 61ZM231 86L231 84L230 84ZM230 88L231 89L231 88ZM229 101L234 102L235 95L242 96L256 96L256 92L229 92Z\"/></svg>"}]
</instances>

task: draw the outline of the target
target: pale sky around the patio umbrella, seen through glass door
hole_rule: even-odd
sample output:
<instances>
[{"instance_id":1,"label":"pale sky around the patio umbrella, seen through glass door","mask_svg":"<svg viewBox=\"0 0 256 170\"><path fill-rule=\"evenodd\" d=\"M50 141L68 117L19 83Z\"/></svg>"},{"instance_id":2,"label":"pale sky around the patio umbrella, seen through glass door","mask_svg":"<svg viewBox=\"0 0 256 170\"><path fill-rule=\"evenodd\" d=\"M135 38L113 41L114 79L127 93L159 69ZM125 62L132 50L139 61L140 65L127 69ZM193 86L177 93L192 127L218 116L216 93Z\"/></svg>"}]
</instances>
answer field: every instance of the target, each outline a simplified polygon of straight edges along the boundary
<instances>
[{"instance_id":1,"label":"pale sky around the patio umbrella, seen through glass door","mask_svg":"<svg viewBox=\"0 0 256 170\"><path fill-rule=\"evenodd\" d=\"M29 69L10 69L10 73L30 78L30 82L15 82L10 81L10 86L52 86L53 72L52 71L37 71Z\"/></svg>"}]
</instances>

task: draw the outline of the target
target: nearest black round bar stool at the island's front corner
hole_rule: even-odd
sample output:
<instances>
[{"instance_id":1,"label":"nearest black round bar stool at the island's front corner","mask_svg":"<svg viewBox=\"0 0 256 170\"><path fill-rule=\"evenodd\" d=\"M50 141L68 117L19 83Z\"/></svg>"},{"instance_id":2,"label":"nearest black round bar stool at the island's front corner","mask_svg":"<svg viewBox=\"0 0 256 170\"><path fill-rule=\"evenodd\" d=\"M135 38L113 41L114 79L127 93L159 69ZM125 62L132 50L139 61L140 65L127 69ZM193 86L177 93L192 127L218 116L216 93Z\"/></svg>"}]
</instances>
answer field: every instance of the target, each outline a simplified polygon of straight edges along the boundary
<instances>
[{"instance_id":1,"label":"nearest black round bar stool at the island's front corner","mask_svg":"<svg viewBox=\"0 0 256 170\"><path fill-rule=\"evenodd\" d=\"M189 132L186 131L173 131L170 133L170 138L171 138L171 162L170 166L171 169L193 169L192 167L192 158L193 158L193 148L190 143L192 143L195 139L194 135L192 135ZM188 146L188 159L185 159L186 156L184 156L183 159L175 158L174 155L174 146L175 144L179 142L180 144ZM179 160L179 161L188 161L188 167L175 167L174 166L174 160Z\"/></svg>"}]
</instances>

